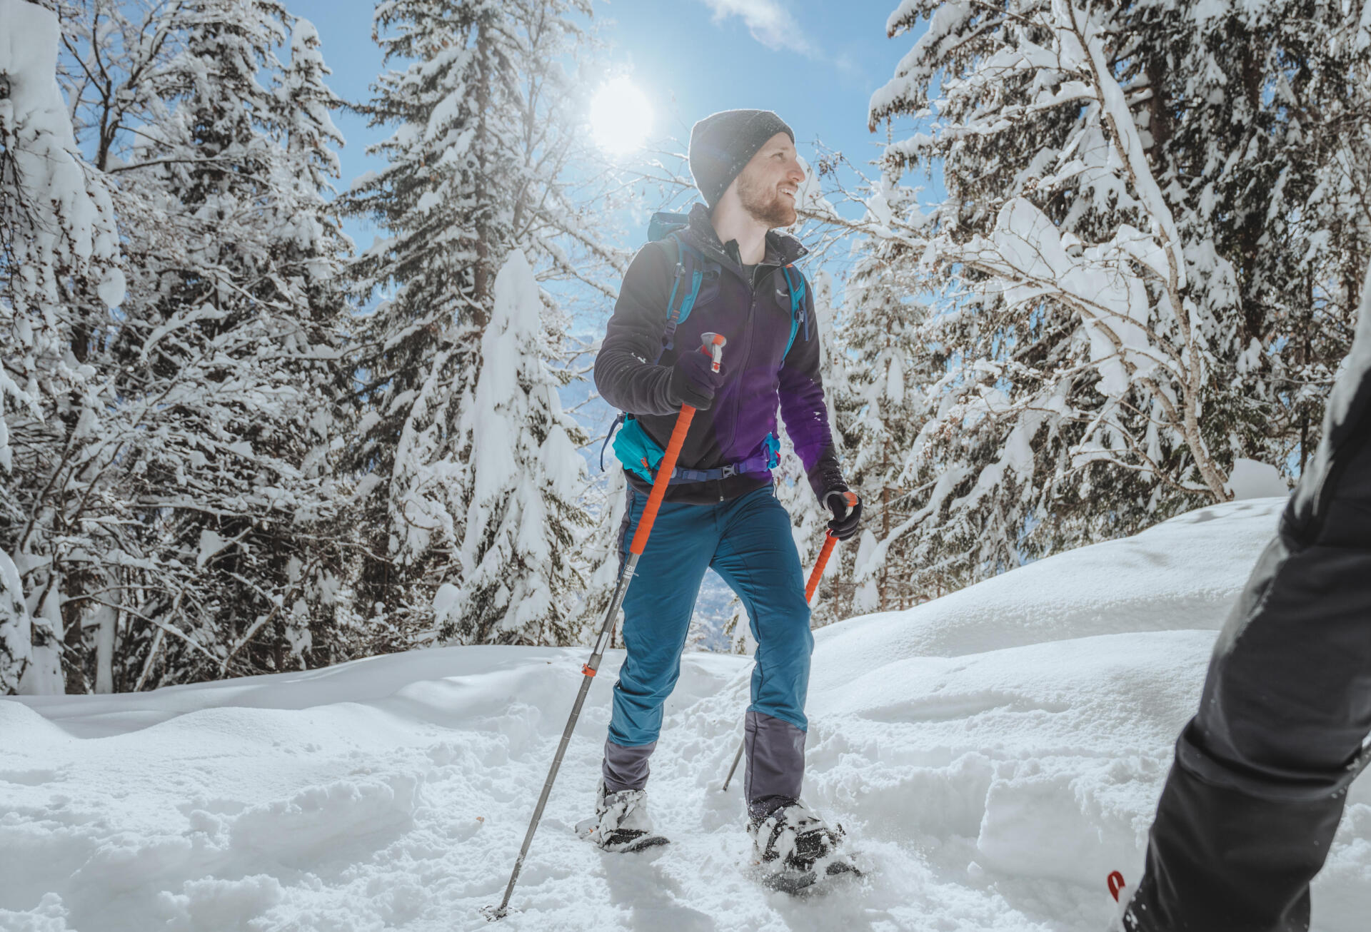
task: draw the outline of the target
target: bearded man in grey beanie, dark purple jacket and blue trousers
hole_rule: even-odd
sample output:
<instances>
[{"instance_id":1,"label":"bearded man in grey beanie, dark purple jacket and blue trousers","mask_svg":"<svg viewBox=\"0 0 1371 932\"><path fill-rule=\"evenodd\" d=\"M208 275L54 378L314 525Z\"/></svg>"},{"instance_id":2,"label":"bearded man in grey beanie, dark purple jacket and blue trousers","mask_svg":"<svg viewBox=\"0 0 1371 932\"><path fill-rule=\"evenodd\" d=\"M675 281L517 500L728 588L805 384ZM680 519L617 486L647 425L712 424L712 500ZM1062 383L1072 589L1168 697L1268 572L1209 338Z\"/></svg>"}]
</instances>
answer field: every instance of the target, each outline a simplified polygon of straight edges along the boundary
<instances>
[{"instance_id":1,"label":"bearded man in grey beanie, dark purple jacket and blue trousers","mask_svg":"<svg viewBox=\"0 0 1371 932\"><path fill-rule=\"evenodd\" d=\"M794 133L769 111L714 114L691 130L690 167L705 204L694 207L677 241L648 243L635 256L595 359L600 395L633 418L616 441L629 485L621 554L654 476L646 458L636 462L642 444L659 456L680 407L696 414L679 459L677 471L688 474L669 487L624 599L628 655L614 687L592 837L611 851L665 840L647 817L648 757L680 673L701 581L713 567L743 600L758 644L744 781L758 858L775 861L780 846L788 851L784 866L808 869L832 851L838 833L799 802L814 641L790 515L772 484L777 406L840 540L857 532L861 504L845 500L813 302L790 267L805 248L775 232L795 222L805 181ZM683 251L701 258L703 284L688 317L668 334L668 306L681 300ZM717 373L699 352L703 333L727 340ZM639 445L624 441L628 430Z\"/></svg>"}]
</instances>

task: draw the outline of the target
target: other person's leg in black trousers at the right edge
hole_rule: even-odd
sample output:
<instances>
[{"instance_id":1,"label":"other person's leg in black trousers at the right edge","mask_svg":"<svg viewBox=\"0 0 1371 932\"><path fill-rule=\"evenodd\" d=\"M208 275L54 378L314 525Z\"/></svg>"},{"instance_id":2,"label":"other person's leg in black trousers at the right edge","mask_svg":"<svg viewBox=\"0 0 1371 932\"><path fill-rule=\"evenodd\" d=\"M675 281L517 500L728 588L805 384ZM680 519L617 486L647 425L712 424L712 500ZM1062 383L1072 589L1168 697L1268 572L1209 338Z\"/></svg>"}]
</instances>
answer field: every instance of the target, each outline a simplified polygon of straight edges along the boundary
<instances>
[{"instance_id":1,"label":"other person's leg in black trousers at the right edge","mask_svg":"<svg viewBox=\"0 0 1371 932\"><path fill-rule=\"evenodd\" d=\"M1176 741L1130 932L1296 932L1371 732L1371 270L1323 439Z\"/></svg>"}]
</instances>

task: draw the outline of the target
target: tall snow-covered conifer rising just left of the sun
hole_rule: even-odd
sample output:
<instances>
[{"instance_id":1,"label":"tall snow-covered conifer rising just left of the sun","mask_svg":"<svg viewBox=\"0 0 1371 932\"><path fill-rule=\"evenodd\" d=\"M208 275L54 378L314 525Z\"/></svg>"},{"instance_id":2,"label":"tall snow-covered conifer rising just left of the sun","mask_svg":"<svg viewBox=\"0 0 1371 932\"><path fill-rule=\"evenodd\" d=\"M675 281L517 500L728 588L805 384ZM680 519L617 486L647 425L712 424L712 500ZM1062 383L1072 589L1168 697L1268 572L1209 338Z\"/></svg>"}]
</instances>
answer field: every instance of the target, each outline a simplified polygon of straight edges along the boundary
<instances>
[{"instance_id":1,"label":"tall snow-covered conifer rising just left of the sun","mask_svg":"<svg viewBox=\"0 0 1371 932\"><path fill-rule=\"evenodd\" d=\"M437 585L473 569L452 559L480 539L469 536L468 506L477 482L494 481L472 467L483 452L463 425L477 404L496 270L522 249L537 281L577 280L613 295L595 271L611 256L572 196L585 134L570 69L585 55L588 15L587 0L377 7L377 41L388 62L407 67L381 75L365 107L373 125L395 126L374 147L389 163L358 180L345 203L387 232L355 265L359 293L383 297L359 334L348 465L372 530L362 598L415 636L433 624ZM555 308L543 325L559 343ZM462 606L474 614L444 613L446 632L526 640L544 630L543 621L522 635L496 629L485 596L472 592Z\"/></svg>"}]
</instances>

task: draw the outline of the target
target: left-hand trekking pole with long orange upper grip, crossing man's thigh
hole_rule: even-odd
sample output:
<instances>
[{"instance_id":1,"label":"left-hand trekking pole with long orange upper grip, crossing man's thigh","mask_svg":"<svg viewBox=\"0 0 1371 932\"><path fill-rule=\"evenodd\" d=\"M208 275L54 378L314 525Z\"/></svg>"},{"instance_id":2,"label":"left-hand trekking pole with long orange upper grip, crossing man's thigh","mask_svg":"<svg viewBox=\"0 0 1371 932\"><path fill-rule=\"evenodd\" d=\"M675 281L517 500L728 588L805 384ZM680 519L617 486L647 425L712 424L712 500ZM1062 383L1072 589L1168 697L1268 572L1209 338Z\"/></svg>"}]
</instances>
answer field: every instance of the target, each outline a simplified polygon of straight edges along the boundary
<instances>
[{"instance_id":1,"label":"left-hand trekking pole with long orange upper grip, crossing man's thigh","mask_svg":"<svg viewBox=\"0 0 1371 932\"><path fill-rule=\"evenodd\" d=\"M702 334L703 345L699 351L714 358L714 365L712 369L717 373L718 365L724 359L724 344L727 340L718 333L705 333ZM690 404L681 404L680 414L676 415L676 428L672 430L672 439L666 444L666 452L662 456L661 465L657 467L657 478L653 480L653 492L647 496L647 506L643 508L643 517L638 519L638 530L633 533L633 543L628 547L628 559L624 561L624 569L618 574L618 585L614 587L614 598L609 602L609 611L605 613L605 621L600 622L599 636L595 639L595 650L591 652L591 659L581 666L581 688L576 694L576 703L572 706L572 717L566 720L566 728L562 731L562 740L557 746L557 754L553 757L553 766L547 772L547 780L543 783L543 794L537 798L537 806L533 809L533 818L528 824L528 833L524 836L524 847L520 848L518 858L514 861L514 870L510 873L510 883L505 888L505 899L496 907L487 906L481 910L481 914L489 920L502 920L509 916L510 896L514 894L514 884L518 883L520 870L524 869L524 858L528 857L528 848L533 843L533 833L537 831L537 824L543 818L543 809L547 806L547 798L553 792L553 781L557 780L557 772L562 768L562 757L566 754L566 746L572 740L572 732L576 731L576 720L581 715L581 706L585 704L585 695L591 689L591 680L595 678L595 672L599 670L600 658L605 657L605 647L609 644L609 636L614 630L614 621L618 617L618 610L624 604L624 593L628 591L628 584L633 578L633 570L638 567L638 558L643 555L643 548L647 547L647 536L653 533L653 522L657 521L657 510L662 506L662 496L666 495L666 485L670 482L672 471L676 469L676 458L680 456L681 444L686 443L686 433L690 430L691 418L695 417L695 408Z\"/></svg>"}]
</instances>

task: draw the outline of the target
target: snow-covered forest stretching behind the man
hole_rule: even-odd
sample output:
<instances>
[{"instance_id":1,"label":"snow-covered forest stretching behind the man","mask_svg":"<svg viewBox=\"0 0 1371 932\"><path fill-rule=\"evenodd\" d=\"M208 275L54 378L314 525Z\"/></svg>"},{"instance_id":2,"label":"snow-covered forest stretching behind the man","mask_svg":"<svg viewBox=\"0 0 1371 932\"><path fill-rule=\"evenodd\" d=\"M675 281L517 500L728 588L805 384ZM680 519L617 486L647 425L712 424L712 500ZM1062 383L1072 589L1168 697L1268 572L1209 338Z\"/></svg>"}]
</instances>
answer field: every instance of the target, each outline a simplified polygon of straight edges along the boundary
<instances>
[{"instance_id":1,"label":"snow-covered forest stretching behind the man","mask_svg":"<svg viewBox=\"0 0 1371 932\"><path fill-rule=\"evenodd\" d=\"M355 99L308 5L0 0L5 692L584 639L622 507L594 340L706 108L781 110L810 169L866 502L816 624L1283 491L1319 440L1368 259L1371 4L845 8L873 58L820 4L384 0ZM590 101L635 55L679 97L611 156ZM810 561L798 476L786 451ZM718 614L696 640L746 650Z\"/></svg>"}]
</instances>

